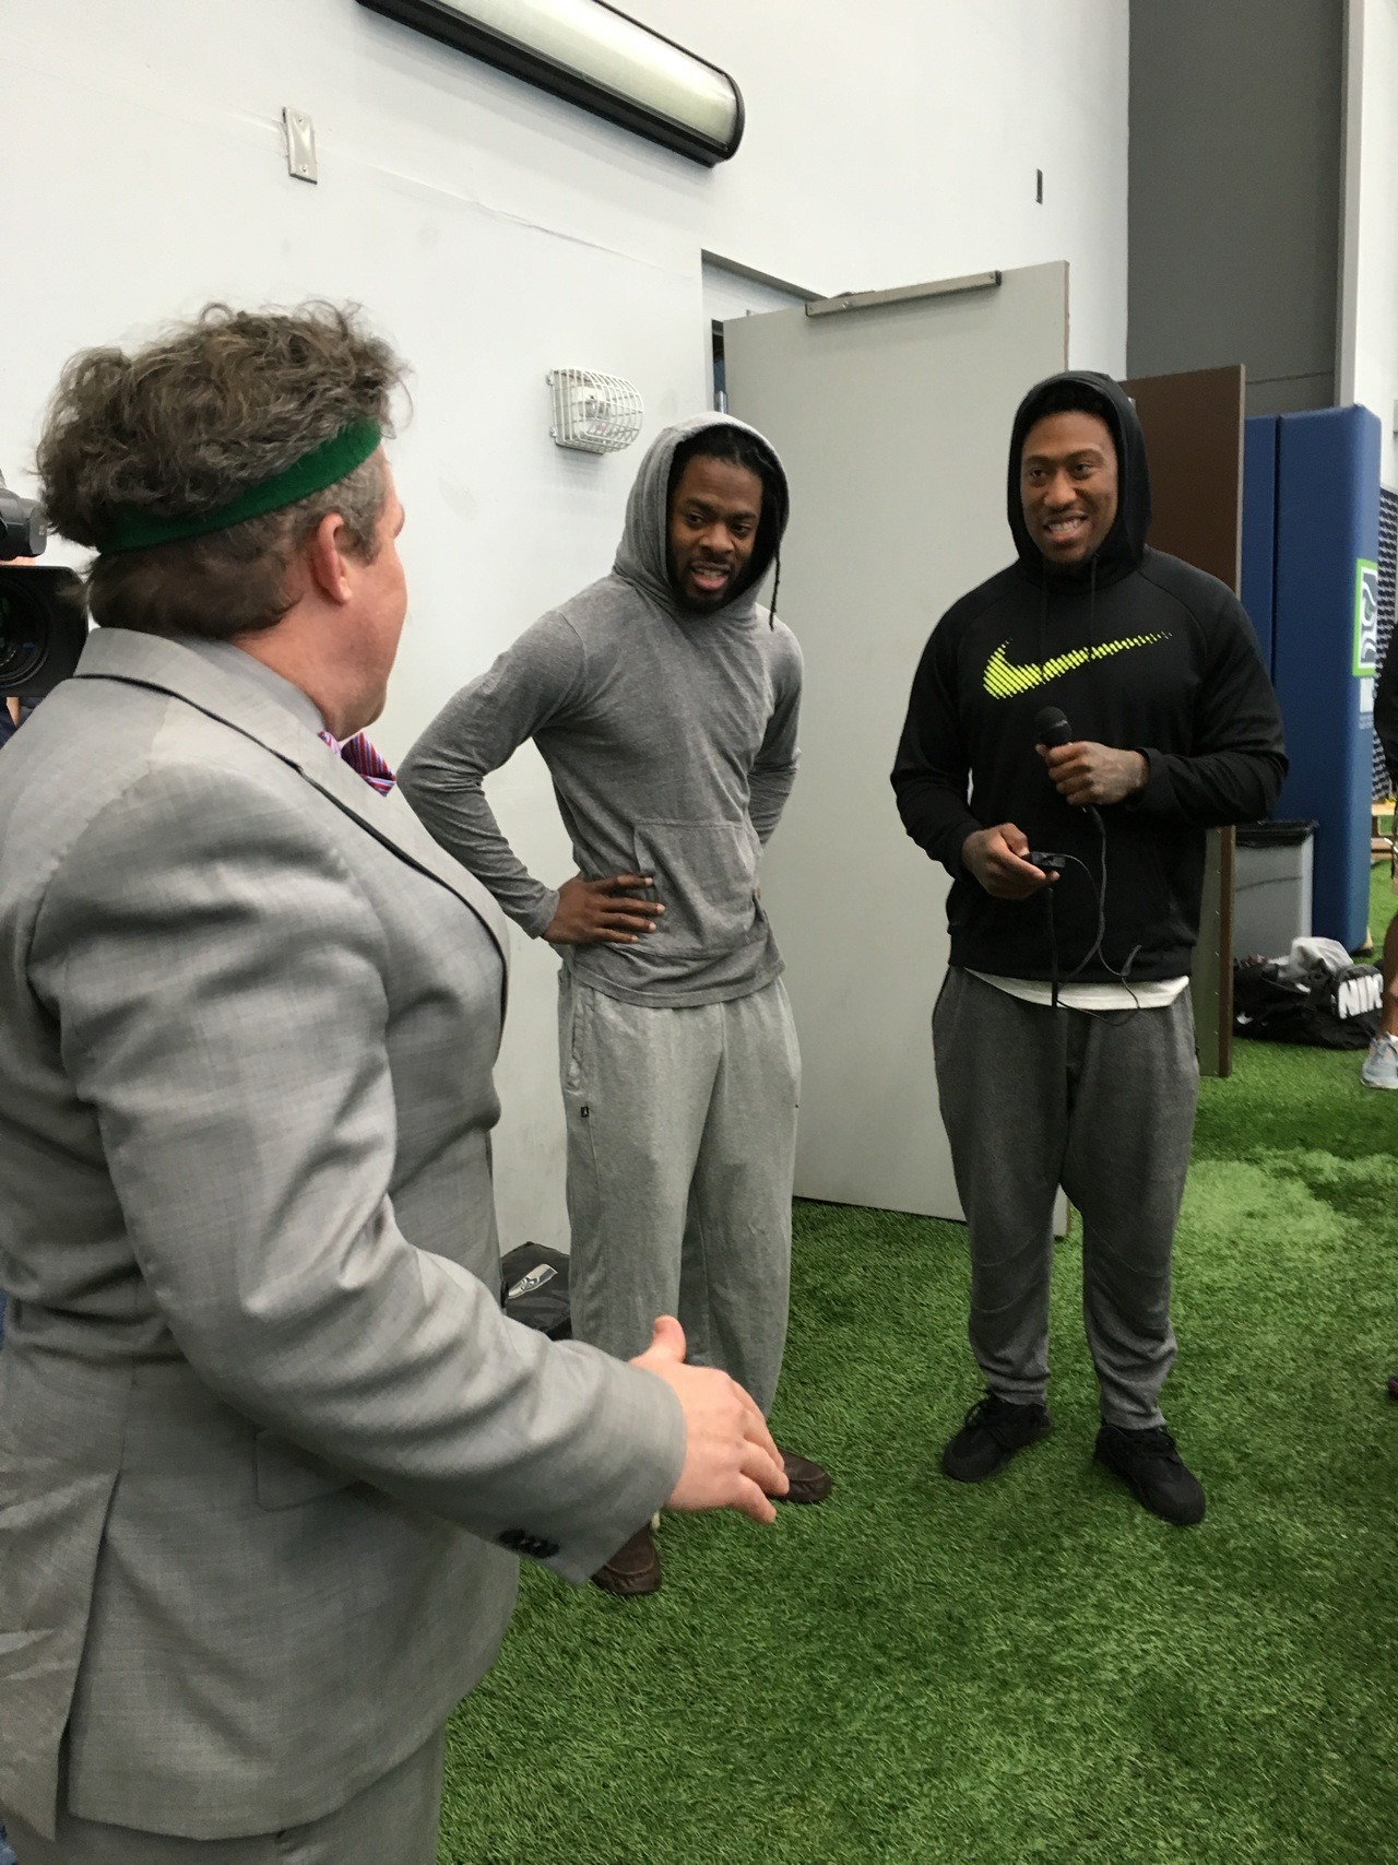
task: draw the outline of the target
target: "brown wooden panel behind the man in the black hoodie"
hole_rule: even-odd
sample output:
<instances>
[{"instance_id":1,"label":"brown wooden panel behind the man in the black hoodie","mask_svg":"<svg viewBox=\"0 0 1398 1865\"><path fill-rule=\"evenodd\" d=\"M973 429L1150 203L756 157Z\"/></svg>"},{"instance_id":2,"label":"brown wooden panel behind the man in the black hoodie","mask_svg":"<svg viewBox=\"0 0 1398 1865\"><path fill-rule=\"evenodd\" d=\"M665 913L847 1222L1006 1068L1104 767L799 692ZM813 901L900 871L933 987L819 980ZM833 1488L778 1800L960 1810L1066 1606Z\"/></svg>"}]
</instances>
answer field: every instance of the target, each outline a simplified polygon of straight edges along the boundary
<instances>
[{"instance_id":1,"label":"brown wooden panel behind the man in the black hoodie","mask_svg":"<svg viewBox=\"0 0 1398 1865\"><path fill-rule=\"evenodd\" d=\"M1122 384L1135 401L1150 461L1156 550L1208 571L1234 595L1243 580L1241 364L1143 375ZM1213 830L1195 951L1193 1000L1204 1074L1232 1074L1232 852L1234 832Z\"/></svg>"}]
</instances>

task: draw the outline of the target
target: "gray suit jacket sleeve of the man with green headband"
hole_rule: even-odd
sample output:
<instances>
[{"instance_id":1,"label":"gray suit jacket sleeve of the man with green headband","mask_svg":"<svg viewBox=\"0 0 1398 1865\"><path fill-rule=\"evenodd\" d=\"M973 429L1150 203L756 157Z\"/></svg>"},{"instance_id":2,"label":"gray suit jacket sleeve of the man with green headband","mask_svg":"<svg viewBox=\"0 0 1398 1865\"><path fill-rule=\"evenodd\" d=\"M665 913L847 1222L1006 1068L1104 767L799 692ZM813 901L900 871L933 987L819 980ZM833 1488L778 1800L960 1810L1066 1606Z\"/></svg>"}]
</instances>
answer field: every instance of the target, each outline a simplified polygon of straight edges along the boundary
<instances>
[{"instance_id":1,"label":"gray suit jacket sleeve of the man with green headband","mask_svg":"<svg viewBox=\"0 0 1398 1865\"><path fill-rule=\"evenodd\" d=\"M673 1488L682 1414L652 1375L507 1320L399 1229L390 964L313 817L212 770L108 804L30 944L140 1272L199 1378L582 1582Z\"/></svg>"}]
</instances>

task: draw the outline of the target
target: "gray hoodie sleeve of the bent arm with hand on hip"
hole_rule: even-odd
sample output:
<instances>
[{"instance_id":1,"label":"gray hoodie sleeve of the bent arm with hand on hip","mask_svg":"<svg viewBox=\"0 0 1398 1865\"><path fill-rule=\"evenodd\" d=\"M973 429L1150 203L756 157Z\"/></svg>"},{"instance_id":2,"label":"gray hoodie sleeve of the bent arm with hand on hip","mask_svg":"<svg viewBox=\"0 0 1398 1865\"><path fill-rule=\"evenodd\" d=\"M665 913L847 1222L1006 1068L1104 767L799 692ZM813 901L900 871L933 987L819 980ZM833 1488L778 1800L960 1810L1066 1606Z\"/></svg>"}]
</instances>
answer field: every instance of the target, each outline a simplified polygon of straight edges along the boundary
<instances>
[{"instance_id":1,"label":"gray hoodie sleeve of the bent arm with hand on hip","mask_svg":"<svg viewBox=\"0 0 1398 1865\"><path fill-rule=\"evenodd\" d=\"M526 739L567 716L583 673L576 630L561 615L544 615L488 673L447 699L399 767L399 789L436 841L531 938L557 912L557 890L535 880L514 854L483 785Z\"/></svg>"}]
</instances>

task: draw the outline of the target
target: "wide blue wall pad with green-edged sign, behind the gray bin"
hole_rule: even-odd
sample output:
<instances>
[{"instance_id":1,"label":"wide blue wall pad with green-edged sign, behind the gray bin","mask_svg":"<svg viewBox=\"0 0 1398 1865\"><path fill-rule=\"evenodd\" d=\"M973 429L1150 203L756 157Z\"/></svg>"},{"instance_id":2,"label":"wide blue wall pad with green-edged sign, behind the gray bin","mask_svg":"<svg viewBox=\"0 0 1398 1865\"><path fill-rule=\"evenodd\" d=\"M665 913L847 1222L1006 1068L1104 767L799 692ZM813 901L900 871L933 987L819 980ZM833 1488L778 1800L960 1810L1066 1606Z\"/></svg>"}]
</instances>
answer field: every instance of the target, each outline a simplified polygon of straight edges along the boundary
<instances>
[{"instance_id":1,"label":"wide blue wall pad with green-edged sign, behind the gray bin","mask_svg":"<svg viewBox=\"0 0 1398 1865\"><path fill-rule=\"evenodd\" d=\"M1368 925L1374 683L1355 673L1359 560L1379 550L1379 420L1282 414L1273 679L1292 770L1277 817L1314 817L1312 927L1353 951Z\"/></svg>"}]
</instances>

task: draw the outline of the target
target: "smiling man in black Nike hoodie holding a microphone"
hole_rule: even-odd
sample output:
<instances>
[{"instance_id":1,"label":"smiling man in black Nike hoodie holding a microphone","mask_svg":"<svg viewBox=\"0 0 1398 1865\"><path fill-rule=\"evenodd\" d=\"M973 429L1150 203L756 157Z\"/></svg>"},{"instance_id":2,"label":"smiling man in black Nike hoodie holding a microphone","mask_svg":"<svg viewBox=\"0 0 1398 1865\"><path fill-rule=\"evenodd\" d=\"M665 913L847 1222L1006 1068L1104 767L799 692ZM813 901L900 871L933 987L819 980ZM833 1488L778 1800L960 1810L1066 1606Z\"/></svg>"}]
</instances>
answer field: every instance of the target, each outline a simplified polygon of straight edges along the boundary
<instances>
[{"instance_id":1,"label":"smiling man in black Nike hoodie holding a microphone","mask_svg":"<svg viewBox=\"0 0 1398 1865\"><path fill-rule=\"evenodd\" d=\"M1096 1457L1189 1524L1204 1492L1158 1404L1199 1089L1187 972L1204 832L1271 809L1281 716L1236 597L1146 546L1144 442L1109 377L1023 399L1008 517L1018 563L938 623L893 770L908 834L953 877L932 1029L986 1397L941 1462L979 1483L1049 1432L1062 1186L1083 1214Z\"/></svg>"}]
</instances>

